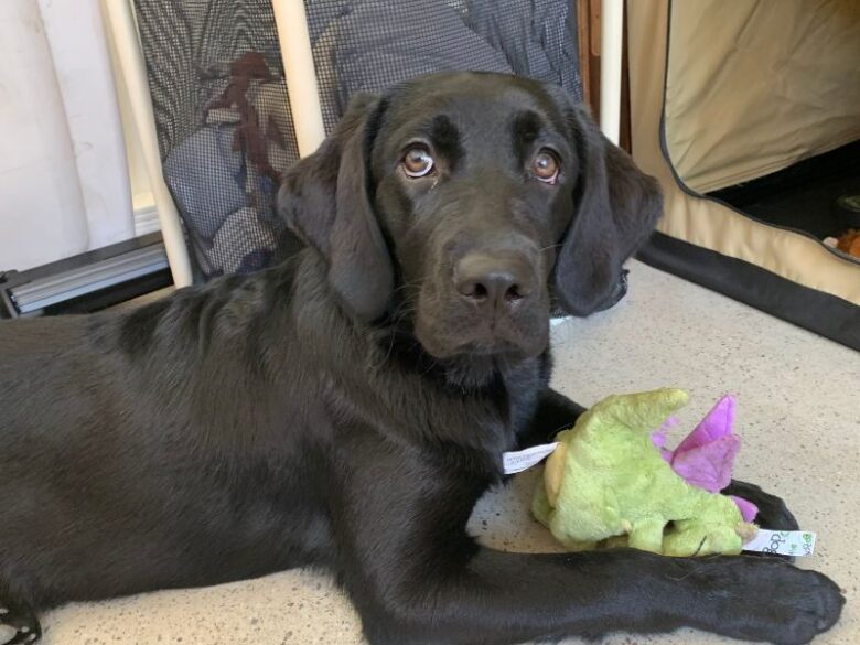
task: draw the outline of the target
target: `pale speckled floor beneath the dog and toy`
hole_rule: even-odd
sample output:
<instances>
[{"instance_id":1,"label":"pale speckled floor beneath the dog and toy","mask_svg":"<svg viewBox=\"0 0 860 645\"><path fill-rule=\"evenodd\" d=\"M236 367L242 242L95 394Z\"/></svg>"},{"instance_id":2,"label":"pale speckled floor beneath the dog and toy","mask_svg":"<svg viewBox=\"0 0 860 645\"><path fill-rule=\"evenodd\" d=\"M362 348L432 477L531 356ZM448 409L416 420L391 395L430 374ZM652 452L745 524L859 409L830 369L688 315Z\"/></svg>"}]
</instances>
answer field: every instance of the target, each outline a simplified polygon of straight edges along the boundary
<instances>
[{"instance_id":1,"label":"pale speckled floor beneath the dog and toy","mask_svg":"<svg viewBox=\"0 0 860 645\"><path fill-rule=\"evenodd\" d=\"M725 391L739 395L740 479L778 492L818 531L802 561L846 590L842 621L820 645L860 643L860 354L748 307L633 262L616 308L553 330L555 386L583 405L611 393L675 385L696 420ZM528 515L536 471L479 505L475 535L509 550L555 548ZM330 579L288 571L212 589L169 591L62 608L43 617L45 645L292 645L364 643ZM578 643L570 641L569 643ZM617 634L606 645L731 643L684 631Z\"/></svg>"}]
</instances>

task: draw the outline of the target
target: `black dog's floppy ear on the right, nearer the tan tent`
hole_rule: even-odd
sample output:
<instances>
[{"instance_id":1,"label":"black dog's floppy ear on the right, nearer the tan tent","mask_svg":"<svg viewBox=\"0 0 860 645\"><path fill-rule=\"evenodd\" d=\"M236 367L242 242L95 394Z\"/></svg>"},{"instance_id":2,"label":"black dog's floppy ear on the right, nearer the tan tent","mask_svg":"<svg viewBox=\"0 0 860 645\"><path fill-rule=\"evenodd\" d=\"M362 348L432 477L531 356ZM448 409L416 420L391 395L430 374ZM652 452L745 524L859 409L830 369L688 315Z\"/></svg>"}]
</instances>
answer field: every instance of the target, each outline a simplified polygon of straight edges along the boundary
<instances>
[{"instance_id":1,"label":"black dog's floppy ear on the right, nearer the tan tent","mask_svg":"<svg viewBox=\"0 0 860 645\"><path fill-rule=\"evenodd\" d=\"M626 291L624 261L648 238L663 213L657 181L606 139L581 106L568 112L580 160L576 212L556 259L561 308L588 315L615 304Z\"/></svg>"}]
</instances>

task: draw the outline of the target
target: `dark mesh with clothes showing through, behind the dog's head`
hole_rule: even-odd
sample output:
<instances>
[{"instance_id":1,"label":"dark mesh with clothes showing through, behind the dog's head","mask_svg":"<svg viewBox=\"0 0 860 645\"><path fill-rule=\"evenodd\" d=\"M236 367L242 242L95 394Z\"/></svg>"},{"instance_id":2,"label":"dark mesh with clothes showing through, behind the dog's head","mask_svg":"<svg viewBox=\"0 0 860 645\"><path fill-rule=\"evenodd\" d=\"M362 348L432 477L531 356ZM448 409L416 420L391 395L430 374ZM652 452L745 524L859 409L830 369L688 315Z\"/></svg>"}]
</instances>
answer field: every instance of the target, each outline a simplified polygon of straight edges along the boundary
<instances>
[{"instance_id":1,"label":"dark mesh with clothes showing through, behind the dog's head","mask_svg":"<svg viewBox=\"0 0 860 645\"><path fill-rule=\"evenodd\" d=\"M299 146L272 1L135 0L135 10L195 279L277 261L295 245L273 205ZM325 131L356 92L443 69L526 75L582 98L571 0L307 0L304 10Z\"/></svg>"}]
</instances>

